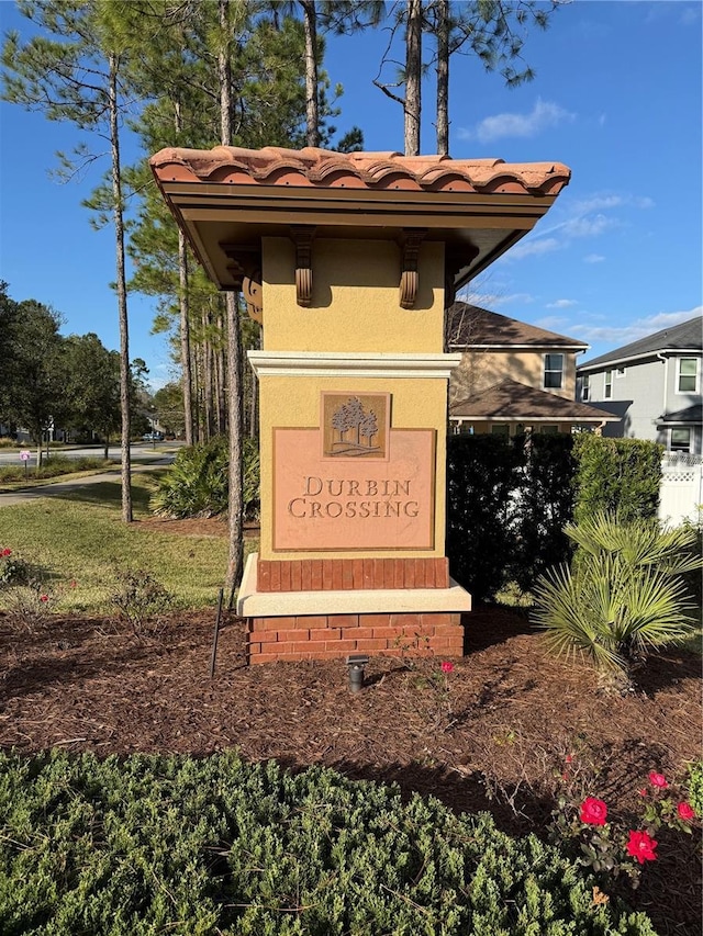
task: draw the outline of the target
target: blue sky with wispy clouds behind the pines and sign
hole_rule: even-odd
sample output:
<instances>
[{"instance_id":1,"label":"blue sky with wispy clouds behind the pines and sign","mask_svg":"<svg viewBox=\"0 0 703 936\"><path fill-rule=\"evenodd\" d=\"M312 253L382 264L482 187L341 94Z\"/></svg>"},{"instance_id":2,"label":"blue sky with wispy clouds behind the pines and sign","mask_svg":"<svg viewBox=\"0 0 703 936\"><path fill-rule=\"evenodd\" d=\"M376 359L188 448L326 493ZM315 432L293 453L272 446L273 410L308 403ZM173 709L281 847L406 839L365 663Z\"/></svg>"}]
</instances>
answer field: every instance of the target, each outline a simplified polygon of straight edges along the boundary
<instances>
[{"instance_id":1,"label":"blue sky with wispy clouds behind the pines and sign","mask_svg":"<svg viewBox=\"0 0 703 936\"><path fill-rule=\"evenodd\" d=\"M574 0L531 32L531 83L507 90L476 60L453 59L450 155L560 161L572 180L535 230L472 284L470 301L588 341L585 358L701 312L702 22L700 2ZM24 32L0 0L0 27ZM382 32L331 40L325 66L344 86L341 133L361 126L368 150L402 150L401 108L373 87ZM435 150L434 87L423 90L422 151ZM111 228L81 207L108 168L53 180L56 150L80 135L0 103L0 278L14 300L64 317L64 334L96 331L119 347ZM107 149L107 147L105 147ZM138 157L127 144L125 158ZM99 167L99 168L98 168ZM172 375L156 301L130 298L131 357L154 385ZM585 359L584 358L584 359Z\"/></svg>"}]
</instances>

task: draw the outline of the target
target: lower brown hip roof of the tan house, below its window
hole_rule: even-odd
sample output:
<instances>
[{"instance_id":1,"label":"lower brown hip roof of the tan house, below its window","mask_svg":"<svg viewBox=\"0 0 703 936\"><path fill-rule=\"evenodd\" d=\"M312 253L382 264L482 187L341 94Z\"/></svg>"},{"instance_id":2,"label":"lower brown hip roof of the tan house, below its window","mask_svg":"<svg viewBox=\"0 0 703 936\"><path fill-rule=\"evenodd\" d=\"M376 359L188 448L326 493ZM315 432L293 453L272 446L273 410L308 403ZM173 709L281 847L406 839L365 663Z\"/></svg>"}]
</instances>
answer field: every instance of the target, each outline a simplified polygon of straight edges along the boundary
<instances>
[{"instance_id":1,"label":"lower brown hip roof of the tan house, below its window","mask_svg":"<svg viewBox=\"0 0 703 936\"><path fill-rule=\"evenodd\" d=\"M553 420L555 422L603 422L620 421L620 417L585 403L565 399L543 390L535 390L504 380L461 399L449 407L449 417L468 419L498 419L528 422Z\"/></svg>"}]
</instances>

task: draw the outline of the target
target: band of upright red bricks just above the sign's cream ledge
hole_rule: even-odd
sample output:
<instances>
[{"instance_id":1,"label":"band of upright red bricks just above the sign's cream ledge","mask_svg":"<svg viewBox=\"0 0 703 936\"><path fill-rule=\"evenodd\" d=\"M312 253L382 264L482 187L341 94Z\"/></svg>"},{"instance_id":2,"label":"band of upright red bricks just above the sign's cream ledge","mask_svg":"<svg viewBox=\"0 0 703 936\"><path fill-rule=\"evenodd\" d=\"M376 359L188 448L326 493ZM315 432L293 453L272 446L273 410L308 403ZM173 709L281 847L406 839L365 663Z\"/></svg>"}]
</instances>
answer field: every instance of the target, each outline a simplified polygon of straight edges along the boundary
<instances>
[{"instance_id":1,"label":"band of upright red bricks just above the sign's cream ledge","mask_svg":"<svg viewBox=\"0 0 703 936\"><path fill-rule=\"evenodd\" d=\"M258 591L448 588L449 560L299 559L257 563Z\"/></svg>"}]
</instances>

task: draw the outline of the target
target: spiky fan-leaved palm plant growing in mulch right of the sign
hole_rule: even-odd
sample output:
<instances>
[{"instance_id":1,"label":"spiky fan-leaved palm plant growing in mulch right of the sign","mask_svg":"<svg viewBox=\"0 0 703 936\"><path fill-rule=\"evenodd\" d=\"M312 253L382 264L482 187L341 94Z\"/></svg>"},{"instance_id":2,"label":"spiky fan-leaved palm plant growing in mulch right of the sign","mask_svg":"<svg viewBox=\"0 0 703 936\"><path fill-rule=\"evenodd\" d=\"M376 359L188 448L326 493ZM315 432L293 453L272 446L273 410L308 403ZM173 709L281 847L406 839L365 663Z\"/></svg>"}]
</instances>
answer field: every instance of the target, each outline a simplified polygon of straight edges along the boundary
<instances>
[{"instance_id":1,"label":"spiky fan-leaved palm plant growing in mulch right of the sign","mask_svg":"<svg viewBox=\"0 0 703 936\"><path fill-rule=\"evenodd\" d=\"M582 655L621 687L647 655L695 628L683 575L701 568L691 528L656 520L621 522L601 511L566 534L578 550L537 580L535 622L561 655Z\"/></svg>"}]
</instances>

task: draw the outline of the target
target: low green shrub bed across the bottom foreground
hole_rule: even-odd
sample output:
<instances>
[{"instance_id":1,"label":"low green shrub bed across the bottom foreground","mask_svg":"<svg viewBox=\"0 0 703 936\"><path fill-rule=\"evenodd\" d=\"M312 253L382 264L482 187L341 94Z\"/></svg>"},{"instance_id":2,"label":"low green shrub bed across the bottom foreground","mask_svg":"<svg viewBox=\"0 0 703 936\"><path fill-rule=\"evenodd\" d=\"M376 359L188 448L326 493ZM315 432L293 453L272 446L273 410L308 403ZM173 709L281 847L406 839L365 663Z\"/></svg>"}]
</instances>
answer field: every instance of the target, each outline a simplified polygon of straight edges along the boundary
<instances>
[{"instance_id":1,"label":"low green shrub bed across the bottom foreground","mask_svg":"<svg viewBox=\"0 0 703 936\"><path fill-rule=\"evenodd\" d=\"M0 755L4 936L654 936L488 814L235 754Z\"/></svg>"}]
</instances>

